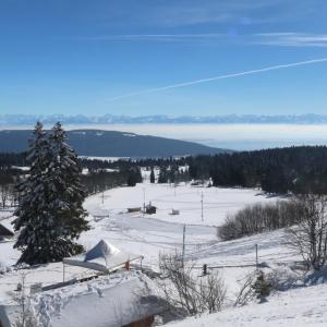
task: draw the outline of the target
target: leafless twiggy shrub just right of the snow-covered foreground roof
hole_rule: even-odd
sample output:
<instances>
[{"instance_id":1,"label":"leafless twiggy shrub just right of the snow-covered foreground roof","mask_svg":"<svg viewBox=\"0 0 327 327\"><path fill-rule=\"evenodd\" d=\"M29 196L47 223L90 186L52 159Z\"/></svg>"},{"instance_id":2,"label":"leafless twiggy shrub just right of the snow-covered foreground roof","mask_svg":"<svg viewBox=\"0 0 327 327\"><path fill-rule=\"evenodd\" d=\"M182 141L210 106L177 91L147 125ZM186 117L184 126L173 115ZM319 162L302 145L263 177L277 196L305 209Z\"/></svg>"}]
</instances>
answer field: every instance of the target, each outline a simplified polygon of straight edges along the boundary
<instances>
[{"instance_id":1,"label":"leafless twiggy shrub just right of the snow-covered foreground roof","mask_svg":"<svg viewBox=\"0 0 327 327\"><path fill-rule=\"evenodd\" d=\"M226 299L220 274L198 277L193 265L182 265L181 255L160 255L162 288L168 303L181 307L189 315L220 311Z\"/></svg>"}]
</instances>

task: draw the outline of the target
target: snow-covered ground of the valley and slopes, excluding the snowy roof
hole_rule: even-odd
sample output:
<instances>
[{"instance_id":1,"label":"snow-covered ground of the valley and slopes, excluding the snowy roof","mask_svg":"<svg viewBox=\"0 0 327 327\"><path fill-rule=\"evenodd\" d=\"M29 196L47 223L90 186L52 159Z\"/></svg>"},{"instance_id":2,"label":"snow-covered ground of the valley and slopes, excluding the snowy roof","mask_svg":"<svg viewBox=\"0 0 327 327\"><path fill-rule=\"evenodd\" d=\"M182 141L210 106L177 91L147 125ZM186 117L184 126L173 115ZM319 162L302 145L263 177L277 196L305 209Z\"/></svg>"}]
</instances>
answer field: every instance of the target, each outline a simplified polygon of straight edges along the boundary
<instances>
[{"instance_id":1,"label":"snow-covered ground of the valley and slopes, excluding the snowy roof","mask_svg":"<svg viewBox=\"0 0 327 327\"><path fill-rule=\"evenodd\" d=\"M80 242L88 250L99 240L106 239L118 249L144 255L145 266L157 269L159 253L181 251L185 225L186 259L198 269L203 264L207 264L210 269L219 269L226 280L227 304L231 304L244 277L255 268L255 244L258 245L259 262L269 267L282 267L300 259L286 245L282 230L229 242L219 242L217 239L217 227L223 223L227 214L235 213L247 204L275 201L277 197L268 197L257 190L190 184L173 187L148 182L135 187L119 187L86 199L85 208L89 213L92 229L82 234ZM144 202L155 205L157 213L128 213L128 208L143 207ZM170 215L172 209L180 210L180 215ZM109 215L102 219L94 218L101 214ZM1 213L0 219L9 226L13 219L11 215L10 211ZM12 245L13 242L0 243L0 262L8 266L20 256ZM68 267L65 274L66 278L72 278L87 275L87 271ZM20 275L15 271L0 275L0 303L7 302L19 280ZM27 283L35 281L44 284L62 281L62 265L51 264L29 271ZM326 291L327 286L320 284L277 292L265 304L228 307L218 314L191 318L171 326L327 326Z\"/></svg>"}]
</instances>

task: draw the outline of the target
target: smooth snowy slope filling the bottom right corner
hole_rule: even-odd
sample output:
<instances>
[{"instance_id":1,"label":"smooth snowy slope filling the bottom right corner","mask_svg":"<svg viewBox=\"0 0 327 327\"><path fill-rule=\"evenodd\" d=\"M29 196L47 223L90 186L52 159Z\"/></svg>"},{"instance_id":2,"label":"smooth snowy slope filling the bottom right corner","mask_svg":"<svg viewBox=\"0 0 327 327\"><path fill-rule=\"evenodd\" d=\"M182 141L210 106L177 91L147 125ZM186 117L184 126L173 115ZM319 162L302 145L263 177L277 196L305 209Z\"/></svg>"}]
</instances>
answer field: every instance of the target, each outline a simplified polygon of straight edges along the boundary
<instances>
[{"instance_id":1,"label":"smooth snowy slope filling the bottom right corner","mask_svg":"<svg viewBox=\"0 0 327 327\"><path fill-rule=\"evenodd\" d=\"M228 308L220 313L187 318L167 327L249 326L302 327L327 326L327 284L291 289L269 296L268 302Z\"/></svg>"}]
</instances>

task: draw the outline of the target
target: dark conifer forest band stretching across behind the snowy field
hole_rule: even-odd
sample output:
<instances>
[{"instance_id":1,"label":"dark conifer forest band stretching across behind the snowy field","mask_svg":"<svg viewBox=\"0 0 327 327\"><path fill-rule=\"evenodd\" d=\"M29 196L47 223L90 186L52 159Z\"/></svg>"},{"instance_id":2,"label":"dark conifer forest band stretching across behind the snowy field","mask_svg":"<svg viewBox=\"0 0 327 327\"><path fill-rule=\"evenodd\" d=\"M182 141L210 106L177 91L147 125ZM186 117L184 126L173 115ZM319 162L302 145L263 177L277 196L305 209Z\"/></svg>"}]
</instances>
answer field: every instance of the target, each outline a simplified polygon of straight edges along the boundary
<instances>
[{"instance_id":1,"label":"dark conifer forest band stretching across behind the snowy field","mask_svg":"<svg viewBox=\"0 0 327 327\"><path fill-rule=\"evenodd\" d=\"M22 155L2 154L0 169L22 164L24 166L24 161L20 160ZM90 174L94 173L86 179L99 181L99 185L93 189L102 189L104 183L133 185L135 181L140 181L140 167L147 167L148 170L153 167L159 169L157 180L159 183L211 178L214 186L262 187L269 193L327 193L326 146L275 148L179 159L157 158L113 162L80 159L78 161L83 168L88 169ZM187 166L189 169L179 169L182 166ZM106 182L100 182L98 174L105 177L105 169L116 169L122 175L108 172ZM89 180L86 183L89 183Z\"/></svg>"}]
</instances>

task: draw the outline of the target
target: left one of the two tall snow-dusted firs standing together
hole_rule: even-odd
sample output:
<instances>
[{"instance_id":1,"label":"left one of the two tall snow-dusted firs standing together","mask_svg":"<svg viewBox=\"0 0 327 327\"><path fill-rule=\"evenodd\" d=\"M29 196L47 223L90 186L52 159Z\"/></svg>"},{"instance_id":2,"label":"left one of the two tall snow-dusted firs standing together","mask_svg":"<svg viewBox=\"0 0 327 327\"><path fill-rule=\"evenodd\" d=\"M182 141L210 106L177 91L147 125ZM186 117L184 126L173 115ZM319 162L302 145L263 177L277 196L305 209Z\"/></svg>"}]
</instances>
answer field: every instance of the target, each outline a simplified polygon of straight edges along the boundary
<instances>
[{"instance_id":1,"label":"left one of the two tall snow-dusted firs standing together","mask_svg":"<svg viewBox=\"0 0 327 327\"><path fill-rule=\"evenodd\" d=\"M51 228L48 226L48 187L45 174L49 165L49 143L46 138L43 124L38 122L34 130L34 138L29 141L27 162L29 174L17 185L21 202L14 215L14 230L20 235L14 247L23 252L19 263L37 263L46 255L45 243L51 240Z\"/></svg>"}]
</instances>

